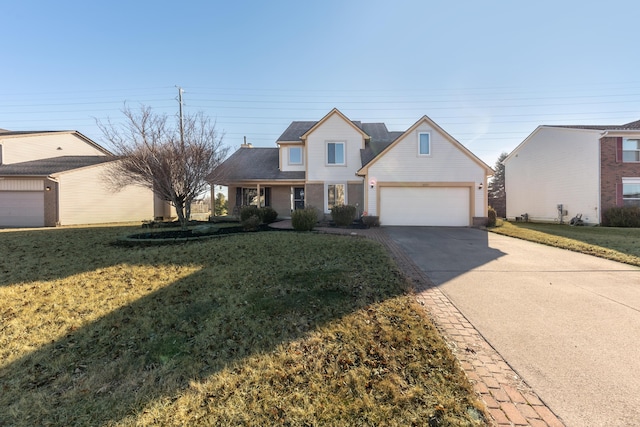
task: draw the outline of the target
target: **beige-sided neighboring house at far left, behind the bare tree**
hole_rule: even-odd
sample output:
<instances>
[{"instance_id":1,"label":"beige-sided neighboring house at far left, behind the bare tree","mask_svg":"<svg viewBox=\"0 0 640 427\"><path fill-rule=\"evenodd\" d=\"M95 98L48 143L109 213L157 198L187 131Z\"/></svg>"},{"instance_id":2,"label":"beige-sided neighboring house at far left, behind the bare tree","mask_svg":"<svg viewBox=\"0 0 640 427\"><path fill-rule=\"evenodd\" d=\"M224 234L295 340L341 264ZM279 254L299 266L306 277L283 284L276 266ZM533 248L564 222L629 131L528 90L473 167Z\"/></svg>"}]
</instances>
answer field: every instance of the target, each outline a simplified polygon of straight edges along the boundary
<instances>
[{"instance_id":1,"label":"beige-sided neighboring house at far left, behind the bare tree","mask_svg":"<svg viewBox=\"0 0 640 427\"><path fill-rule=\"evenodd\" d=\"M113 192L104 172L116 158L75 131L0 132L0 227L141 221L153 193Z\"/></svg>"}]
</instances>

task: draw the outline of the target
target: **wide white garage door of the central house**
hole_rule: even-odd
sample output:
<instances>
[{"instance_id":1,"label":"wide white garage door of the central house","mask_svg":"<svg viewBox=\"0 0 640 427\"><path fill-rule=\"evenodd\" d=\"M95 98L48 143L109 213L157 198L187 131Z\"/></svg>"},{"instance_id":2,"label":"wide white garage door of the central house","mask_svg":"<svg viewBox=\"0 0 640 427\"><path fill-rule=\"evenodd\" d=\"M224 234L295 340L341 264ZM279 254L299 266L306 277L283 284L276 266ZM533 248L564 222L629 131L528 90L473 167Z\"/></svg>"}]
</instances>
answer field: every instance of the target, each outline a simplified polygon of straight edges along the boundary
<instances>
[{"instance_id":1,"label":"wide white garage door of the central house","mask_svg":"<svg viewBox=\"0 0 640 427\"><path fill-rule=\"evenodd\" d=\"M469 226L466 187L382 187L382 225Z\"/></svg>"}]
</instances>

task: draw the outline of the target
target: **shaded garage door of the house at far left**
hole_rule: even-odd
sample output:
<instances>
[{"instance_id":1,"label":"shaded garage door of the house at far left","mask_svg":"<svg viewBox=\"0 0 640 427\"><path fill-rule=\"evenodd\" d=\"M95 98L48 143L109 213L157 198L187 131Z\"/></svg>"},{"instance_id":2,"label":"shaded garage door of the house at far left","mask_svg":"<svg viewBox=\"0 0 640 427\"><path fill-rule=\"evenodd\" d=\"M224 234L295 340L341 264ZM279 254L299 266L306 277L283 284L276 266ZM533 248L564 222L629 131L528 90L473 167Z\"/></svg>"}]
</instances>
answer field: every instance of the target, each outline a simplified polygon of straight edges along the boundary
<instances>
[{"instance_id":1,"label":"shaded garage door of the house at far left","mask_svg":"<svg viewBox=\"0 0 640 427\"><path fill-rule=\"evenodd\" d=\"M44 227L44 193L0 191L0 227Z\"/></svg>"}]
</instances>

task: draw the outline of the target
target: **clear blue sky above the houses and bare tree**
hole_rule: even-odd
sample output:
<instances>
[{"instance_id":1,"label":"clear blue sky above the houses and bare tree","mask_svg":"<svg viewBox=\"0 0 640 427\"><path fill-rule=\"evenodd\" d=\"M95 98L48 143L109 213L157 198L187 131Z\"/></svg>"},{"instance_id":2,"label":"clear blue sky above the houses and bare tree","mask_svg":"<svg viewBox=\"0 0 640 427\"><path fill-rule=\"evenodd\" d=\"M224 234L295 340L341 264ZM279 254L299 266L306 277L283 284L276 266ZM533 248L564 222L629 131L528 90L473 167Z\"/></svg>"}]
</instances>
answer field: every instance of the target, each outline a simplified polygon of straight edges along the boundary
<instances>
[{"instance_id":1,"label":"clear blue sky above the houses and bare tree","mask_svg":"<svg viewBox=\"0 0 640 427\"><path fill-rule=\"evenodd\" d=\"M540 124L640 119L640 3L2 1L0 128L78 130L147 105L274 146L333 107L432 118L493 166Z\"/></svg>"}]
</instances>

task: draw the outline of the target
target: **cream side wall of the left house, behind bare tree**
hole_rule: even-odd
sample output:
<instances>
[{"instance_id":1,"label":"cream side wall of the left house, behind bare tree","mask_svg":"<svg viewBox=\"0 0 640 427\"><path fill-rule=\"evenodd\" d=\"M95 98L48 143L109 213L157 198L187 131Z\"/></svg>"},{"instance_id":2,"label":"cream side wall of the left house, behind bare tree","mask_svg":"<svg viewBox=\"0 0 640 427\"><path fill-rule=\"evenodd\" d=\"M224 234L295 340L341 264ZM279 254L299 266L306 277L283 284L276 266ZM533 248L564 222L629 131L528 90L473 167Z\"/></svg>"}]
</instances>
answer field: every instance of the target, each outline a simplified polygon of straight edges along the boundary
<instances>
[{"instance_id":1,"label":"cream side wall of the left house, behind bare tree","mask_svg":"<svg viewBox=\"0 0 640 427\"><path fill-rule=\"evenodd\" d=\"M104 185L98 165L59 174L60 225L99 224L153 219L151 190L129 186L112 192Z\"/></svg>"}]
</instances>

